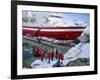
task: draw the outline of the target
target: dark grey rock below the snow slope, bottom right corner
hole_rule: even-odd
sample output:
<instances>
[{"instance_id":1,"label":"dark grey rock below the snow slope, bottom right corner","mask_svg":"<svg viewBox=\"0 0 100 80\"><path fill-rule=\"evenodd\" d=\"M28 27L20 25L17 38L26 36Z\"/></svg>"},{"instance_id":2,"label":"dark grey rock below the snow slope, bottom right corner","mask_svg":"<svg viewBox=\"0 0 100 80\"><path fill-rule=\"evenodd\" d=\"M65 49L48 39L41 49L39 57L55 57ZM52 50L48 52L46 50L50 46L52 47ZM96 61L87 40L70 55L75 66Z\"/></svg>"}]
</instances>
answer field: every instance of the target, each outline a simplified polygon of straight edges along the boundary
<instances>
[{"instance_id":1,"label":"dark grey rock below the snow slope, bottom right corner","mask_svg":"<svg viewBox=\"0 0 100 80\"><path fill-rule=\"evenodd\" d=\"M89 58L78 58L70 61L66 66L89 66Z\"/></svg>"}]
</instances>

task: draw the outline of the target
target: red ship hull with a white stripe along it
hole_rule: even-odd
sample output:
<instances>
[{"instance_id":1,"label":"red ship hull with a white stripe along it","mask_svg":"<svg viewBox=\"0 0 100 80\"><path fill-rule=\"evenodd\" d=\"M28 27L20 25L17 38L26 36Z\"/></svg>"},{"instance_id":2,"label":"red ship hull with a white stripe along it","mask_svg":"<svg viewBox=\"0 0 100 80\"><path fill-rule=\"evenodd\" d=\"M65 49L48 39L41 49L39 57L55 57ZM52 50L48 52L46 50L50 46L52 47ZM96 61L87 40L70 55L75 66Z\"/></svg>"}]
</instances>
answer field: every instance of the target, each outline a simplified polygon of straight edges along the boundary
<instances>
[{"instance_id":1,"label":"red ship hull with a white stripe along it","mask_svg":"<svg viewBox=\"0 0 100 80\"><path fill-rule=\"evenodd\" d=\"M28 27L23 26L24 36L41 36L58 40L75 40L81 35L85 27Z\"/></svg>"}]
</instances>

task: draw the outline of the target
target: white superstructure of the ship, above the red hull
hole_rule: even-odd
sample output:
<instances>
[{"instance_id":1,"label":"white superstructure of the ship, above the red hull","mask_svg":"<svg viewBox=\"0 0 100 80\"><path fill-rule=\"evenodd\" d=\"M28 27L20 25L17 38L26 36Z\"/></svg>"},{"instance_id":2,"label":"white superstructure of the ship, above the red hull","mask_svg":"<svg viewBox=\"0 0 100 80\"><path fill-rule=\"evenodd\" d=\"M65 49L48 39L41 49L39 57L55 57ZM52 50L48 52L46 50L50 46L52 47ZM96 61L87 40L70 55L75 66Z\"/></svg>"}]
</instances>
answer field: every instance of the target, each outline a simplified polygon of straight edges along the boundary
<instances>
[{"instance_id":1,"label":"white superstructure of the ship, above the red hull","mask_svg":"<svg viewBox=\"0 0 100 80\"><path fill-rule=\"evenodd\" d=\"M68 26L60 13L23 12L23 26L56 27Z\"/></svg>"}]
</instances>

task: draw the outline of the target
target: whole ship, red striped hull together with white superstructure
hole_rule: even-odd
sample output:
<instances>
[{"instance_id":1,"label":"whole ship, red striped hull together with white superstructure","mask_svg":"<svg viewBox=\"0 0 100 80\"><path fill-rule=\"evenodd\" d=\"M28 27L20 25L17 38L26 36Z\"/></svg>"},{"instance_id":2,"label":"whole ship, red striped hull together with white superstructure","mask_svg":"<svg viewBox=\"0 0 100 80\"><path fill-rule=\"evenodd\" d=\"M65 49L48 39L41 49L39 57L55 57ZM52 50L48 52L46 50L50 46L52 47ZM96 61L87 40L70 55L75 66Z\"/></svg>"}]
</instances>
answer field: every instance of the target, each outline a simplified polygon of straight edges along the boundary
<instances>
[{"instance_id":1,"label":"whole ship, red striped hull together with white superstructure","mask_svg":"<svg viewBox=\"0 0 100 80\"><path fill-rule=\"evenodd\" d=\"M22 26L23 36L56 40L75 40L85 28L85 26L80 25L66 25L63 17L58 13L24 16Z\"/></svg>"}]
</instances>

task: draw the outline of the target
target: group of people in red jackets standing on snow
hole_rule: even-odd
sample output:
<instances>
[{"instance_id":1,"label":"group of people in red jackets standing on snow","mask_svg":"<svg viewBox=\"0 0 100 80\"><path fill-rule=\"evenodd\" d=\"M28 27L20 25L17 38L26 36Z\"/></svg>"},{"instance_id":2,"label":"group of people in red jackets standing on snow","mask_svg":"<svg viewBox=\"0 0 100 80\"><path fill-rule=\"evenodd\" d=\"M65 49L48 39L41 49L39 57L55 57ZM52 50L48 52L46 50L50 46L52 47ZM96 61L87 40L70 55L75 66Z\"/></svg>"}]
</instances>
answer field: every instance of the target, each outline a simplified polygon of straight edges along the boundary
<instances>
[{"instance_id":1,"label":"group of people in red jackets standing on snow","mask_svg":"<svg viewBox=\"0 0 100 80\"><path fill-rule=\"evenodd\" d=\"M42 51L39 47L37 47L35 48L33 55L39 56L41 61L47 59L49 64L54 59L56 59L58 63L63 64L63 60L64 60L64 55L57 49L55 51L54 50Z\"/></svg>"}]
</instances>

